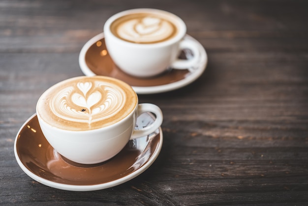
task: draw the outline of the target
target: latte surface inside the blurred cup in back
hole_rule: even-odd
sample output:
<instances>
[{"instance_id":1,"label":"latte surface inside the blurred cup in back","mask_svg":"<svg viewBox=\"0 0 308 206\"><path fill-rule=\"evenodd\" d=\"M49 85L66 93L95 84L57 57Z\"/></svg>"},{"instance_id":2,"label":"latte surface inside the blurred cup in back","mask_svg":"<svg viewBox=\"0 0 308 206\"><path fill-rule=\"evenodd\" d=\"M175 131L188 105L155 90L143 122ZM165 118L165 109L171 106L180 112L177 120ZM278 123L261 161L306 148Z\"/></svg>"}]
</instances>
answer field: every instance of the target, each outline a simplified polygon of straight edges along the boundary
<instances>
[{"instance_id":1,"label":"latte surface inside the blurred cup in back","mask_svg":"<svg viewBox=\"0 0 308 206\"><path fill-rule=\"evenodd\" d=\"M112 34L133 43L149 44L167 41L178 34L172 17L155 13L133 13L116 19L110 26Z\"/></svg>"}]
</instances>

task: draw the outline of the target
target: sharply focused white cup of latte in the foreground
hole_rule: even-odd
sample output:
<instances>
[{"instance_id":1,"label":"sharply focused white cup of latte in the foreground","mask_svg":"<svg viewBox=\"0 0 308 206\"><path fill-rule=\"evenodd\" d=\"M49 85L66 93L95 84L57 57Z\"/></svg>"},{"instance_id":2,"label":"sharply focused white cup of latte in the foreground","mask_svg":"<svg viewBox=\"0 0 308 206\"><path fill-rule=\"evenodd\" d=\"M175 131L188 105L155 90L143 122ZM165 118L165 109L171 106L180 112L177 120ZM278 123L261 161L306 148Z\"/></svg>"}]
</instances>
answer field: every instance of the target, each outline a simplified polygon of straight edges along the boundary
<instances>
[{"instance_id":1,"label":"sharply focused white cup of latte in the foreground","mask_svg":"<svg viewBox=\"0 0 308 206\"><path fill-rule=\"evenodd\" d=\"M154 113L156 119L135 130L136 119L144 112ZM152 134L163 119L156 105L138 104L128 84L105 76L80 76L55 84L39 98L36 113L50 145L81 164L112 158L129 139Z\"/></svg>"}]
</instances>

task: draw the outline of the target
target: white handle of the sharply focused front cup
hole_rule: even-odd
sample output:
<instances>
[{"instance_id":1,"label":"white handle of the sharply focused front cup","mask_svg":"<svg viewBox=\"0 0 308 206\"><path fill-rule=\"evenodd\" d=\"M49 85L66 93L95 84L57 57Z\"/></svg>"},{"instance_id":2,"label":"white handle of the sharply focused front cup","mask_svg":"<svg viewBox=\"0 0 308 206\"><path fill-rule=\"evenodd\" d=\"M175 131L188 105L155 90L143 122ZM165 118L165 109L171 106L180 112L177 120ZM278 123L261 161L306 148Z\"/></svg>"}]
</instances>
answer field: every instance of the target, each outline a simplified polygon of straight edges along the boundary
<instances>
[{"instance_id":1,"label":"white handle of the sharply focused front cup","mask_svg":"<svg viewBox=\"0 0 308 206\"><path fill-rule=\"evenodd\" d=\"M135 139L138 137L144 137L150 135L157 130L162 123L162 112L160 108L152 103L140 103L137 108L137 118L144 112L152 112L155 114L156 119L154 122L141 130L134 130L130 139Z\"/></svg>"}]
</instances>

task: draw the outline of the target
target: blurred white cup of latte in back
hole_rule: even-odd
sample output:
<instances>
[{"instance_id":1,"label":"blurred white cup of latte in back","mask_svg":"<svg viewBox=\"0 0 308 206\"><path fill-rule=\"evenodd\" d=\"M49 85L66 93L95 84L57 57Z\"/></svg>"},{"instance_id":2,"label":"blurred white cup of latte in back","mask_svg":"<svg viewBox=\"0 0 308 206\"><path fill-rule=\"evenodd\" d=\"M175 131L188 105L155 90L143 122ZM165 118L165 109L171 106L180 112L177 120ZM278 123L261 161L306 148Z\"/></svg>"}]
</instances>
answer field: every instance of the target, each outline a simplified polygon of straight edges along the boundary
<instances>
[{"instance_id":1,"label":"blurred white cup of latte in back","mask_svg":"<svg viewBox=\"0 0 308 206\"><path fill-rule=\"evenodd\" d=\"M109 55L124 72L150 77L173 69L189 69L198 60L198 45L184 39L184 21L167 11L139 8L111 16L104 25ZM193 57L178 59L183 49Z\"/></svg>"}]
</instances>

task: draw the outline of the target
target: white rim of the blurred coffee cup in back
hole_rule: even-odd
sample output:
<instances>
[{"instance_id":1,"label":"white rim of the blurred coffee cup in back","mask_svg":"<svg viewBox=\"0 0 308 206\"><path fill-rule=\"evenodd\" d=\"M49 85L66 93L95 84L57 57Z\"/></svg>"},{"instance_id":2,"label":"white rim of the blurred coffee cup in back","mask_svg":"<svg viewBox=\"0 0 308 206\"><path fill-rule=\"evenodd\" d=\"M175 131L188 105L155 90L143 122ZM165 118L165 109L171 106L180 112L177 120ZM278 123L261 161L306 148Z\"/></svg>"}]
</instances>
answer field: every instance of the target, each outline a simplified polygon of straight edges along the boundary
<instances>
[{"instance_id":1,"label":"white rim of the blurred coffee cup in back","mask_svg":"<svg viewBox=\"0 0 308 206\"><path fill-rule=\"evenodd\" d=\"M160 15L168 15L171 16L173 19L175 19L176 25L179 28L179 32L178 34L176 34L173 38L168 39L166 41L162 41L162 42L154 42L154 43L134 43L134 42L129 42L129 41L125 41L121 38L118 38L117 36L115 36L111 30L110 30L110 26L111 24L118 18L127 15L127 14L134 14L134 13L139 13L139 12L150 12L150 13L159 13ZM136 46L136 47L160 47L160 46L165 46L165 45L169 45L172 44L174 42L180 41L181 39L184 38L185 34L186 34L186 24L185 22L177 15L169 12L169 11L165 11L165 10L161 10L161 9L155 9L155 8L134 8L134 9L128 9L128 10L123 10L121 12L118 12L114 15L112 15L111 17L109 17L107 19L107 21L104 24L104 34L106 37L106 34L110 34L110 36L112 36L114 39L117 39L119 42L123 43L123 44L127 44L130 46Z\"/></svg>"}]
</instances>

